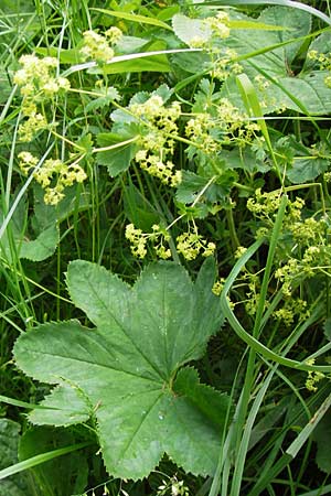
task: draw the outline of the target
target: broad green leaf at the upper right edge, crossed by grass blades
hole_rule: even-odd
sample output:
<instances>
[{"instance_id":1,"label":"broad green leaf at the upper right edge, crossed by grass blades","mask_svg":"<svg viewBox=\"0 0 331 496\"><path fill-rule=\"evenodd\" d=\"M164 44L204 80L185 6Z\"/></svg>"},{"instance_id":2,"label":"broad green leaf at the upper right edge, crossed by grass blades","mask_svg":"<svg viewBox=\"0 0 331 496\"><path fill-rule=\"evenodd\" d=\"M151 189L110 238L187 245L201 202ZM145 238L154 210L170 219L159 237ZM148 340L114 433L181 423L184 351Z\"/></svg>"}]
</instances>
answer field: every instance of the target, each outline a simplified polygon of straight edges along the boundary
<instances>
[{"instance_id":1,"label":"broad green leaf at the upper right edge, crossed by grass blades","mask_svg":"<svg viewBox=\"0 0 331 496\"><path fill-rule=\"evenodd\" d=\"M236 15L245 19L243 14ZM258 21L275 24L281 22L287 29L281 32L254 31L248 37L244 32L235 31L224 43L237 52L244 72L255 85L264 114L284 108L308 115L329 114L331 89L324 84L327 72L307 72L313 67L308 61L305 64L306 72L298 73L297 65L292 64L310 32L309 13L285 7L271 7L263 11ZM290 42L291 40L293 41ZM281 46L277 47L277 44ZM266 52L263 53L264 51ZM263 78L265 86L259 83L259 78ZM222 96L242 108L233 78L225 82Z\"/></svg>"}]
</instances>

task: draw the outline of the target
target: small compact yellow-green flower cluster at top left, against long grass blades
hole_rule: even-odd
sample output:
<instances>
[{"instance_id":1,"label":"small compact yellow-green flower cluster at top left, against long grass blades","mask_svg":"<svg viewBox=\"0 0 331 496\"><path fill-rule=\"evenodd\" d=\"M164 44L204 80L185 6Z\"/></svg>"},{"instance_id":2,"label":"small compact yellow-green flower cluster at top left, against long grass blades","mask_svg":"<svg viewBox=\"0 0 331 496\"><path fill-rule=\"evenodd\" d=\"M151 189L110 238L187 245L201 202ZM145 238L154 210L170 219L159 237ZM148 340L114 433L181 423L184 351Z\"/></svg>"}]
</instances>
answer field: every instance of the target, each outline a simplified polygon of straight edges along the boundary
<instances>
[{"instance_id":1,"label":"small compact yellow-green flower cluster at top left, against long grass blades","mask_svg":"<svg viewBox=\"0 0 331 496\"><path fill-rule=\"evenodd\" d=\"M81 48L81 54L84 60L94 60L98 64L104 64L114 57L114 45L116 45L121 36L120 29L113 26L105 32L105 35L96 31L85 31L83 33L84 45Z\"/></svg>"}]
</instances>

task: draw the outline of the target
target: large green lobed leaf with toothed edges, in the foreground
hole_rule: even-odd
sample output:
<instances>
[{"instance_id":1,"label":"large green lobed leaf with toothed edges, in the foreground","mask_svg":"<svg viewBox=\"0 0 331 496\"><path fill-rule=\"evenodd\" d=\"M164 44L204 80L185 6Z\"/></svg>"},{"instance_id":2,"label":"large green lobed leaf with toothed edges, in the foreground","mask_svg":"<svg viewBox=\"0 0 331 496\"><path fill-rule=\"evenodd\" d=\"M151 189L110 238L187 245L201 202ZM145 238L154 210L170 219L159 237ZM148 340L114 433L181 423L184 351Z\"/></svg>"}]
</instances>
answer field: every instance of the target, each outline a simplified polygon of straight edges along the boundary
<instances>
[{"instance_id":1,"label":"large green lobed leaf with toothed edges, in the foreground","mask_svg":"<svg viewBox=\"0 0 331 496\"><path fill-rule=\"evenodd\" d=\"M68 321L19 337L14 356L25 374L49 384L65 380L88 398L113 475L143 477L164 451L188 472L213 474L226 397L216 427L196 406L192 388L178 397L173 381L185 363L203 355L223 322L211 291L214 277L212 259L195 283L181 266L159 262L131 288L103 267L77 260L68 266L68 291L97 328Z\"/></svg>"}]
</instances>

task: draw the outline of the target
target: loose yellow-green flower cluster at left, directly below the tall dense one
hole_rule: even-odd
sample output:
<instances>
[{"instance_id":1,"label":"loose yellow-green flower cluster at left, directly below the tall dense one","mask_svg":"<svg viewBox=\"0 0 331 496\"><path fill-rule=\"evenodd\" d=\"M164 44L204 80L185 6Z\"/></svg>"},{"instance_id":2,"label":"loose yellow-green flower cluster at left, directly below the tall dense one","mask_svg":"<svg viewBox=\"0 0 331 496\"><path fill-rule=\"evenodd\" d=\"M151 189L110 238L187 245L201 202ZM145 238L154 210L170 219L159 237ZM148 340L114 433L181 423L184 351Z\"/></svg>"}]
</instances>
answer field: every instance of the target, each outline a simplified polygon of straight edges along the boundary
<instances>
[{"instance_id":1,"label":"loose yellow-green flower cluster at left, directly below the tall dense one","mask_svg":"<svg viewBox=\"0 0 331 496\"><path fill-rule=\"evenodd\" d=\"M19 166L24 175L32 169L33 177L45 191L44 202L49 205L57 205L64 197L65 187L86 179L84 170L76 162L67 165L58 159L49 159L41 168L36 168L38 158L24 151L19 154Z\"/></svg>"}]
</instances>

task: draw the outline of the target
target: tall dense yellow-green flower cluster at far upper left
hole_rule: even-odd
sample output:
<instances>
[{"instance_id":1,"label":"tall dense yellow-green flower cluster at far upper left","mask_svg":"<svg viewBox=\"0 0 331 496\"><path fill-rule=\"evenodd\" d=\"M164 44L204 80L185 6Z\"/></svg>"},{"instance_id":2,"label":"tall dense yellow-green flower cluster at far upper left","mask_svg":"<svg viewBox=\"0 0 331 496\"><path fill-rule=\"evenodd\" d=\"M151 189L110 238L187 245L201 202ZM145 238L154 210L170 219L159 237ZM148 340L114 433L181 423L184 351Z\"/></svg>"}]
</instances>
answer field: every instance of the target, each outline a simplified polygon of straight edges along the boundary
<instances>
[{"instance_id":1,"label":"tall dense yellow-green flower cluster at far upper left","mask_svg":"<svg viewBox=\"0 0 331 496\"><path fill-rule=\"evenodd\" d=\"M19 137L21 141L31 141L38 131L47 127L44 111L39 110L39 105L44 106L55 95L67 91L70 82L56 75L58 62L54 57L23 55L19 62L22 68L15 73L13 82L21 88L22 114L28 117L19 127Z\"/></svg>"}]
</instances>

